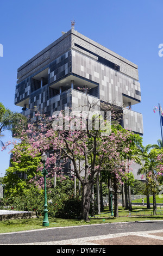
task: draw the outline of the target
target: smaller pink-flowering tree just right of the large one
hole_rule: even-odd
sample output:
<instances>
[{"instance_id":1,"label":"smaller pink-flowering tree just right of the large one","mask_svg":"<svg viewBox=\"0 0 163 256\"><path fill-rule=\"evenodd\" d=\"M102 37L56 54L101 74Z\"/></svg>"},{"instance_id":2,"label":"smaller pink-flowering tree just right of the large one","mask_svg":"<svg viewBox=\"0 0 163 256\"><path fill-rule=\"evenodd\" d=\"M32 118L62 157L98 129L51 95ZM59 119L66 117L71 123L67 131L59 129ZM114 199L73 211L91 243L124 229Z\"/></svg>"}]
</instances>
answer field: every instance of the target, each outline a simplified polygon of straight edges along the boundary
<instances>
[{"instance_id":1,"label":"smaller pink-flowering tree just right of the large one","mask_svg":"<svg viewBox=\"0 0 163 256\"><path fill-rule=\"evenodd\" d=\"M120 125L112 127L112 131L117 134L117 131L120 132L119 139L125 136L125 133L128 132L124 130ZM105 168L102 170L103 180L107 180L108 188L114 188L114 217L118 217L118 190L124 185L128 186L128 193L125 195L129 197L129 206L131 208L130 200L130 177L132 168L131 165L133 162L140 163L139 156L137 156L137 146L142 144L142 138L139 135L136 135L132 132L129 133L129 137L126 141L126 148L117 149L118 157L116 159L110 158L105 162ZM127 205L126 205L127 207ZM129 209L130 209L129 208ZM127 208L128 209L128 208ZM131 209L130 209L131 210Z\"/></svg>"}]
</instances>

